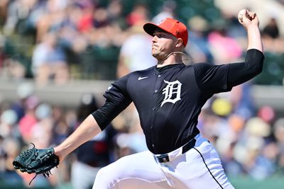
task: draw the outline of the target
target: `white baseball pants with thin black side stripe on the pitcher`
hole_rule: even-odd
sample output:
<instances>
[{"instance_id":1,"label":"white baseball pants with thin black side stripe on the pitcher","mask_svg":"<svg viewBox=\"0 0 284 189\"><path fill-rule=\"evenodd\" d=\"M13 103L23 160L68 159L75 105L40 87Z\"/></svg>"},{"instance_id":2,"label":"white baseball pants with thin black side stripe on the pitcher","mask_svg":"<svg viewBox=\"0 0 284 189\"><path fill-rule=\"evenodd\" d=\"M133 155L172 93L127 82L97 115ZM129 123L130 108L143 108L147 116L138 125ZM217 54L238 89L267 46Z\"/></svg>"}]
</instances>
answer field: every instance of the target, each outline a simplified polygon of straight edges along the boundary
<instances>
[{"instance_id":1,"label":"white baseball pants with thin black side stripe on the pitcher","mask_svg":"<svg viewBox=\"0 0 284 189\"><path fill-rule=\"evenodd\" d=\"M212 144L200 134L195 139L194 148L185 154L176 153L181 148L170 152L166 163L150 151L124 156L99 170L93 189L234 188Z\"/></svg>"}]
</instances>

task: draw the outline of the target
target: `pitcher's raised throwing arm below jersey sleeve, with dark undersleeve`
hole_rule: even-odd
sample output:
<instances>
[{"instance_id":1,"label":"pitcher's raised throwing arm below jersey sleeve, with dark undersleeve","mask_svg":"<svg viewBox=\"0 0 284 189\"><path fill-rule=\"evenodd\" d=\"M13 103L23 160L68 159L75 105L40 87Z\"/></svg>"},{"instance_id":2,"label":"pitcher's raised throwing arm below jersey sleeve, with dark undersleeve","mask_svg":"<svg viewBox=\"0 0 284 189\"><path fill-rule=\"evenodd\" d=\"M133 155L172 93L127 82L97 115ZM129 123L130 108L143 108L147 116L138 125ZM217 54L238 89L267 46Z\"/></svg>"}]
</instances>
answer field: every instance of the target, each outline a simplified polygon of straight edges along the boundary
<instances>
[{"instance_id":1,"label":"pitcher's raised throwing arm below jersey sleeve, with dark undersleeve","mask_svg":"<svg viewBox=\"0 0 284 189\"><path fill-rule=\"evenodd\" d=\"M246 29L248 36L246 60L241 63L229 64L227 85L230 87L249 81L260 74L263 68L264 55L258 16L256 13L246 11L241 24Z\"/></svg>"}]
</instances>

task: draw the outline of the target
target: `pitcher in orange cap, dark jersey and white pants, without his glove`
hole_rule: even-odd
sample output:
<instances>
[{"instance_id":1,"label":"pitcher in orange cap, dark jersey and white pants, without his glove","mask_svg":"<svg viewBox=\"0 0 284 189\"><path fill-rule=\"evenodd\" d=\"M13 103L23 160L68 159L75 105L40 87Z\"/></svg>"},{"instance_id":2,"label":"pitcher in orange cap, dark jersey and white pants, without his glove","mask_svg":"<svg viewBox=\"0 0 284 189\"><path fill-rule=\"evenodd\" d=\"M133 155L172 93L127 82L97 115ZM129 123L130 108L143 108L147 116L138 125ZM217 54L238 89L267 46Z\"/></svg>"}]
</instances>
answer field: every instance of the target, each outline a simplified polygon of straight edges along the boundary
<instances>
[{"instance_id":1,"label":"pitcher in orange cap, dark jersey and white pants, without his glove","mask_svg":"<svg viewBox=\"0 0 284 189\"><path fill-rule=\"evenodd\" d=\"M153 36L155 67L134 71L111 84L102 108L55 147L60 160L99 134L131 102L136 105L148 151L124 156L101 168L93 188L234 188L212 144L200 135L197 118L214 93L230 91L261 73L263 47L256 13L246 11L248 33L244 62L182 64L186 26L172 18L143 29ZM143 62L141 62L143 64Z\"/></svg>"}]
</instances>

